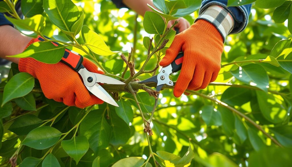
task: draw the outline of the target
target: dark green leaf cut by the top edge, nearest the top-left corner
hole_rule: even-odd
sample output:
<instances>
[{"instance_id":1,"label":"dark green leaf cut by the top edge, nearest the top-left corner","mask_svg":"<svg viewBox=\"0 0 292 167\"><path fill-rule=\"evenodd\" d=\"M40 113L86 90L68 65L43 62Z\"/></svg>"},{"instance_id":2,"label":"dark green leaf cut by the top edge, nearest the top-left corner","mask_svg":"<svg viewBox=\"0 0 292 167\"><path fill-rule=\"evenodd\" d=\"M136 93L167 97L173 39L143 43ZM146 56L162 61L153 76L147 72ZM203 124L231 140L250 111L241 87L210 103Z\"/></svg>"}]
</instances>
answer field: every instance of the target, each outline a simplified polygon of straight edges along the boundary
<instances>
[{"instance_id":1,"label":"dark green leaf cut by the top edge, nearest the top-left corner","mask_svg":"<svg viewBox=\"0 0 292 167\"><path fill-rule=\"evenodd\" d=\"M26 18L42 14L44 12L43 0L22 0L21 11Z\"/></svg>"}]
</instances>

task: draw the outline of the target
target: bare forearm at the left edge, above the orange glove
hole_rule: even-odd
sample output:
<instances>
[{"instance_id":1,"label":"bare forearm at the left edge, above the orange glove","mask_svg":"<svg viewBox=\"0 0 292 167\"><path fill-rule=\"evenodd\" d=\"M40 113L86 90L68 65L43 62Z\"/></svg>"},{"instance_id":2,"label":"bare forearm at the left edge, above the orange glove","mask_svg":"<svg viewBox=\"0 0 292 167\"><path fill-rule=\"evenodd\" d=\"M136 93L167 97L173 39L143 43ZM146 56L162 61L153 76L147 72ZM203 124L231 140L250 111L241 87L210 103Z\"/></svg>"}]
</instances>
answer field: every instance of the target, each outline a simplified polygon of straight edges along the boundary
<instances>
[{"instance_id":1,"label":"bare forearm at the left edge, above the orange glove","mask_svg":"<svg viewBox=\"0 0 292 167\"><path fill-rule=\"evenodd\" d=\"M13 63L18 63L19 58L11 58L7 56L20 54L30 40L31 37L21 34L10 25L0 26L0 58L12 61Z\"/></svg>"}]
</instances>

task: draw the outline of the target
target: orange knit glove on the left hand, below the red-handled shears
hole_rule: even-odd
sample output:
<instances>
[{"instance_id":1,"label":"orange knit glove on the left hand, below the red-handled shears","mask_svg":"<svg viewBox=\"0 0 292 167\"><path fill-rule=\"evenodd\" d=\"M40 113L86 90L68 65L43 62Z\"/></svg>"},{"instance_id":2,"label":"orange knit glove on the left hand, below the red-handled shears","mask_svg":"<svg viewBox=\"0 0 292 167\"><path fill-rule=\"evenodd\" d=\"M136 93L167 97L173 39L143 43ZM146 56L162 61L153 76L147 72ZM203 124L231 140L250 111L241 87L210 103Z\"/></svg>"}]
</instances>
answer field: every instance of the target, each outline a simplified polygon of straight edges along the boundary
<instances>
[{"instance_id":1,"label":"orange knit glove on the left hand, below the red-handled shears","mask_svg":"<svg viewBox=\"0 0 292 167\"><path fill-rule=\"evenodd\" d=\"M33 40L27 47L33 43ZM87 58L84 58L82 64L88 71L104 74ZM18 68L20 72L27 72L39 80L41 89L48 99L79 108L103 103L93 94L89 94L79 74L62 62L46 64L36 61L34 58L21 58Z\"/></svg>"}]
</instances>

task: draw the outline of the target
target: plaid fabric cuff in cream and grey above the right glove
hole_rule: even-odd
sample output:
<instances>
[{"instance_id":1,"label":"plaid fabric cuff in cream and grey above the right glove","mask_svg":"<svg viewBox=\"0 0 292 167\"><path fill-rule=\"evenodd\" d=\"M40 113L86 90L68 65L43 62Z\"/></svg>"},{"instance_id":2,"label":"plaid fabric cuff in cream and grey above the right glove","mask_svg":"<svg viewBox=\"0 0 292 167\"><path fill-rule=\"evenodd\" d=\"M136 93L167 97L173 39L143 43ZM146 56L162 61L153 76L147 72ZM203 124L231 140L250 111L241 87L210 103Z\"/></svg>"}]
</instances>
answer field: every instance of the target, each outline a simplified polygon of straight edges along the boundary
<instances>
[{"instance_id":1,"label":"plaid fabric cuff in cream and grey above the right glove","mask_svg":"<svg viewBox=\"0 0 292 167\"><path fill-rule=\"evenodd\" d=\"M200 16L195 20L206 20L212 23L223 37L225 42L226 36L233 30L234 20L230 13L223 7L212 5L201 12Z\"/></svg>"}]
</instances>

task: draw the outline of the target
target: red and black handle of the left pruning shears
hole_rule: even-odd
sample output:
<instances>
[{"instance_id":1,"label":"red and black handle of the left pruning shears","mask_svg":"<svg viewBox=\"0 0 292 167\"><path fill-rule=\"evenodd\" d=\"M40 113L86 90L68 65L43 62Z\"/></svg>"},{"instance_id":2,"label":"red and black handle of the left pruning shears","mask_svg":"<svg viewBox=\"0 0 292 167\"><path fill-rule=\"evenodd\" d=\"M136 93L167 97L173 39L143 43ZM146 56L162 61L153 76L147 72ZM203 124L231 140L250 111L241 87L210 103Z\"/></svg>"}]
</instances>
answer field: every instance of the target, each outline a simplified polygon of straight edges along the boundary
<instances>
[{"instance_id":1,"label":"red and black handle of the left pruning shears","mask_svg":"<svg viewBox=\"0 0 292 167\"><path fill-rule=\"evenodd\" d=\"M46 38L51 39L49 37L46 37ZM39 41L44 41L44 39L40 36L34 39L34 42L39 42ZM52 44L54 44L56 47L59 45L58 42L52 42ZM65 53L61 59L61 62L67 64L67 66L69 66L70 68L72 68L73 70L77 72L81 68L84 68L84 66L82 65L83 56L67 48L65 49Z\"/></svg>"}]
</instances>

